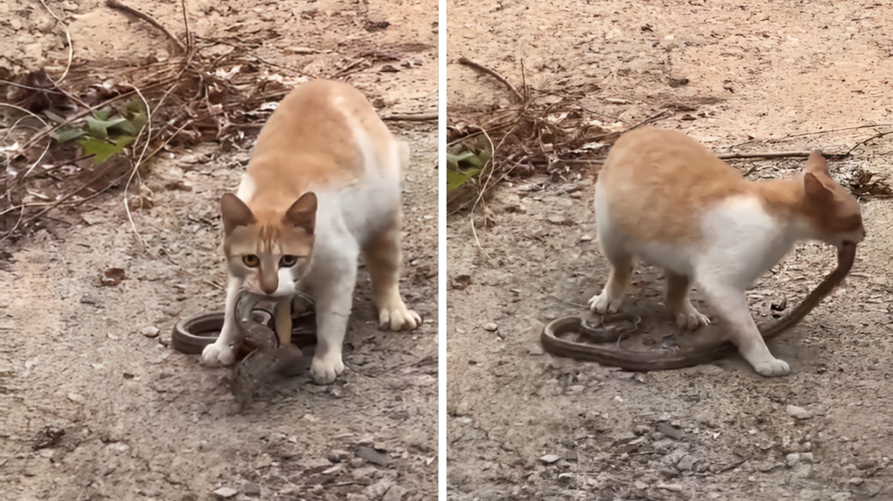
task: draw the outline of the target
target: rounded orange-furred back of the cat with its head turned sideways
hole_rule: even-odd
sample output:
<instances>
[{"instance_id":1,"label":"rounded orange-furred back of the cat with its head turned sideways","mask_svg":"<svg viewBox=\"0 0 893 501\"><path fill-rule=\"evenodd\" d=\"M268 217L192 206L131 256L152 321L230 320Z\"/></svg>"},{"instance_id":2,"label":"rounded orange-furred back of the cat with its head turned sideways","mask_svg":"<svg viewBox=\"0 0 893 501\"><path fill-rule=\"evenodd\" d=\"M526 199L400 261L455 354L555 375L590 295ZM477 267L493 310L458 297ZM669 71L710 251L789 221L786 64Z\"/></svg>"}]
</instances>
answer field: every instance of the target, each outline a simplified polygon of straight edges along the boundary
<instances>
[{"instance_id":1,"label":"rounded orange-furred back of the cat with its head turned sideways","mask_svg":"<svg viewBox=\"0 0 893 501\"><path fill-rule=\"evenodd\" d=\"M716 203L747 193L749 182L678 130L642 127L621 136L598 172L597 216L638 240L697 237Z\"/></svg>"}]
</instances>

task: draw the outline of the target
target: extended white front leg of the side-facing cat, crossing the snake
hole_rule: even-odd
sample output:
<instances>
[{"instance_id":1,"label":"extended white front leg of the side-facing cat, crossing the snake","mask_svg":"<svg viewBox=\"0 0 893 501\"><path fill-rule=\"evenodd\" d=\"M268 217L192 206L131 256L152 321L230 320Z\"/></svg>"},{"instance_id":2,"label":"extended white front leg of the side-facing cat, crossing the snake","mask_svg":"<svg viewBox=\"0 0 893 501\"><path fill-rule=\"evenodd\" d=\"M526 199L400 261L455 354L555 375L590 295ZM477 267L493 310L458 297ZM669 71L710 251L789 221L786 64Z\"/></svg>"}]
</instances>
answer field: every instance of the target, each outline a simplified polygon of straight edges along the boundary
<instances>
[{"instance_id":1,"label":"extended white front leg of the side-facing cat, crossing the snake","mask_svg":"<svg viewBox=\"0 0 893 501\"><path fill-rule=\"evenodd\" d=\"M707 304L714 310L723 324L723 330L730 335L730 341L738 346L741 357L752 365L755 371L764 376L778 376L790 373L787 362L772 357L754 317L747 308L744 292L739 288L718 280L698 279L701 292Z\"/></svg>"}]
</instances>

